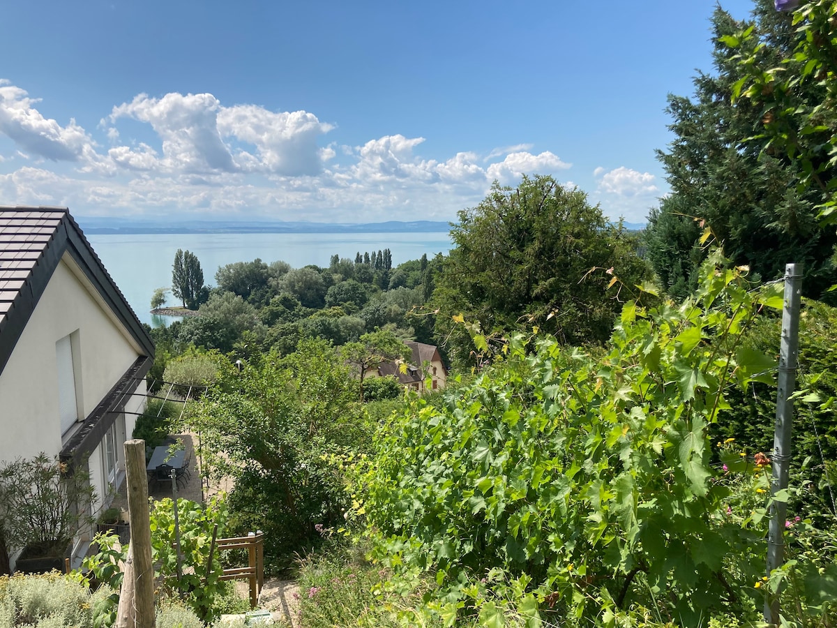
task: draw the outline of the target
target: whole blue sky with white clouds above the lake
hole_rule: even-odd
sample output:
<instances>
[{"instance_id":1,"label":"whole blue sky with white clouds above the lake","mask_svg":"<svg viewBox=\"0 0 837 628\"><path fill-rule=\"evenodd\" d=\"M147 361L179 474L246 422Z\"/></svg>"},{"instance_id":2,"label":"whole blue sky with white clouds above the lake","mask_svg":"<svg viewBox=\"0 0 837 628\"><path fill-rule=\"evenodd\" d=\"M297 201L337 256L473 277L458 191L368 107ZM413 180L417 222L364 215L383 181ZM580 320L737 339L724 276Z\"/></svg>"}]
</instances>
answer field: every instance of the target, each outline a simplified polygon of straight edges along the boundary
<instances>
[{"instance_id":1,"label":"whole blue sky with white clouds above the lake","mask_svg":"<svg viewBox=\"0 0 837 628\"><path fill-rule=\"evenodd\" d=\"M668 191L710 0L4 3L0 203L131 219L455 221L552 175ZM747 18L752 0L721 0Z\"/></svg>"}]
</instances>

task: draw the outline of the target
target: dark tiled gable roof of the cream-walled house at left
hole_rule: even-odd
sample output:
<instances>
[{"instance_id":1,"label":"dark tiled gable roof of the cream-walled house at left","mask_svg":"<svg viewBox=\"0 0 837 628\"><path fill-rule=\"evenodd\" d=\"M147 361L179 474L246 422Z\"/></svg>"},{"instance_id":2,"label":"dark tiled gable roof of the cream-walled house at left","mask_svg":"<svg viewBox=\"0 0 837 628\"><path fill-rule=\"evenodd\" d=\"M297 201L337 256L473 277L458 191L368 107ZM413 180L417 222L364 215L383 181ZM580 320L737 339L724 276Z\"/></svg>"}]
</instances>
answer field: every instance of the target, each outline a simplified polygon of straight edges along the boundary
<instances>
[{"instance_id":1,"label":"dark tiled gable roof of the cream-walled house at left","mask_svg":"<svg viewBox=\"0 0 837 628\"><path fill-rule=\"evenodd\" d=\"M0 373L64 253L84 270L136 342L154 343L67 208L0 205Z\"/></svg>"}]
</instances>

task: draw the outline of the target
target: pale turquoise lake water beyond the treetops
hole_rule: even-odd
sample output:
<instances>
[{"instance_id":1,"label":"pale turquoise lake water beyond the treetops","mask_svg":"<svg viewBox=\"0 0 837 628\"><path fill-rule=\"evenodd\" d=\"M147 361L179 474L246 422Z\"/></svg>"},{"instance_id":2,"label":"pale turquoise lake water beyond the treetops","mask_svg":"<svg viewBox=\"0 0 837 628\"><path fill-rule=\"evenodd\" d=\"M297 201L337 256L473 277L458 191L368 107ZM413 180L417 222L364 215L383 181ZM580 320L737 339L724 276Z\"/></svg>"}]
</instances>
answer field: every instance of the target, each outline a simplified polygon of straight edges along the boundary
<instances>
[{"instance_id":1,"label":"pale turquoise lake water beyond the treetops","mask_svg":"<svg viewBox=\"0 0 837 628\"><path fill-rule=\"evenodd\" d=\"M331 255L354 260L360 251L389 249L393 266L432 257L450 250L448 234L136 234L87 236L105 268L141 322L160 327L172 319L151 316L151 294L172 285L172 262L177 249L198 256L203 281L215 285L218 266L260 258L284 260L294 268L327 266ZM169 295L167 305L180 305Z\"/></svg>"}]
</instances>

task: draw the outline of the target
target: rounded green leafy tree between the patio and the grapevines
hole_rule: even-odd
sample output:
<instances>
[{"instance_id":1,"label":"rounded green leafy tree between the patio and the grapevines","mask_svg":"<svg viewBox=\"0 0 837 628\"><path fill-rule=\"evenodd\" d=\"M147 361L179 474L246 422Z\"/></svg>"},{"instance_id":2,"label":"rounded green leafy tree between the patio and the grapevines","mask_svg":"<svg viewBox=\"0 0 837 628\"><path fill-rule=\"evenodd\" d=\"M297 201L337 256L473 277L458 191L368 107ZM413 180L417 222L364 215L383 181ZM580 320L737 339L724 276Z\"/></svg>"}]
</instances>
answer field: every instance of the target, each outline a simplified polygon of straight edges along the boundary
<instances>
[{"instance_id":1,"label":"rounded green leafy tree between the patio and the grapevines","mask_svg":"<svg viewBox=\"0 0 837 628\"><path fill-rule=\"evenodd\" d=\"M316 543L315 525L342 521L347 507L330 457L367 439L356 384L326 342L306 339L285 358L256 354L223 363L218 383L190 419L210 476L230 476L231 526L265 533L277 559Z\"/></svg>"}]
</instances>

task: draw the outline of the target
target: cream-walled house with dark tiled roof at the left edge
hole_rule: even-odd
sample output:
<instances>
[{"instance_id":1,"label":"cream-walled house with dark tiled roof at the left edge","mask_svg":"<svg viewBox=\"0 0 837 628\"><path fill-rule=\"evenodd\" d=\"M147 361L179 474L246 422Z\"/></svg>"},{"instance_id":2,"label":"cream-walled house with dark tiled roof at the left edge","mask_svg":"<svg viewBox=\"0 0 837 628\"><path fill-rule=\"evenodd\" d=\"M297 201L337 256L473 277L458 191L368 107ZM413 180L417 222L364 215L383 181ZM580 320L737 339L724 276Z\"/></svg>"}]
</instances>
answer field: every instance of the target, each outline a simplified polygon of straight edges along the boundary
<instances>
[{"instance_id":1,"label":"cream-walled house with dark tiled roof at the left edge","mask_svg":"<svg viewBox=\"0 0 837 628\"><path fill-rule=\"evenodd\" d=\"M86 468L97 512L125 476L153 360L69 211L0 206L0 462L43 451Z\"/></svg>"}]
</instances>

